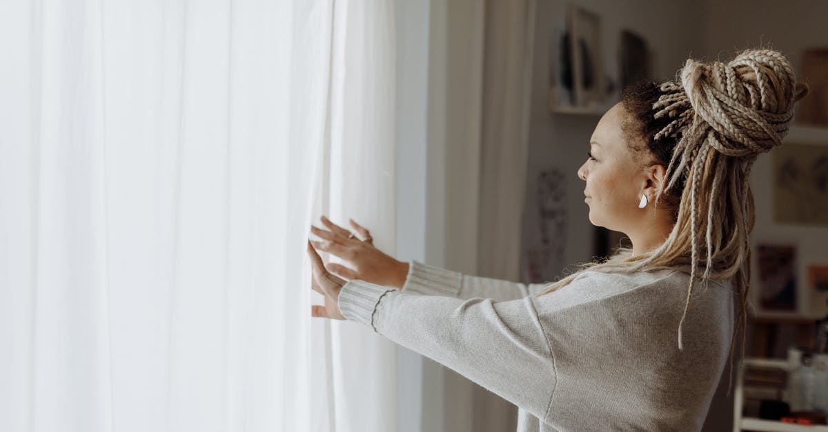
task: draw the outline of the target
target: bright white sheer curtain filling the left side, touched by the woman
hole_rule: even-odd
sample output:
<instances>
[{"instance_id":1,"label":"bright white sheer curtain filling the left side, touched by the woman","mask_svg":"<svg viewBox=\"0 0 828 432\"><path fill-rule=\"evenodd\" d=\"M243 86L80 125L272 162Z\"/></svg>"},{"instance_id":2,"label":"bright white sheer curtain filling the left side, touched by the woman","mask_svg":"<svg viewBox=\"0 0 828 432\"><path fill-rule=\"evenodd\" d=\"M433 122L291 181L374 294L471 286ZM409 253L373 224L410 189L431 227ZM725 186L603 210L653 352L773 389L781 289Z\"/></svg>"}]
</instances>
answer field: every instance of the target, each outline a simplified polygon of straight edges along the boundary
<instances>
[{"instance_id":1,"label":"bright white sheer curtain filling the left side, touched by the woman","mask_svg":"<svg viewBox=\"0 0 828 432\"><path fill-rule=\"evenodd\" d=\"M322 161L331 217L392 242L388 190L358 189L388 155L348 147L373 112L337 132L362 107L330 85L336 3L0 2L0 430L369 430L388 407L342 401L362 374L387 395L387 348L310 318Z\"/></svg>"}]
</instances>

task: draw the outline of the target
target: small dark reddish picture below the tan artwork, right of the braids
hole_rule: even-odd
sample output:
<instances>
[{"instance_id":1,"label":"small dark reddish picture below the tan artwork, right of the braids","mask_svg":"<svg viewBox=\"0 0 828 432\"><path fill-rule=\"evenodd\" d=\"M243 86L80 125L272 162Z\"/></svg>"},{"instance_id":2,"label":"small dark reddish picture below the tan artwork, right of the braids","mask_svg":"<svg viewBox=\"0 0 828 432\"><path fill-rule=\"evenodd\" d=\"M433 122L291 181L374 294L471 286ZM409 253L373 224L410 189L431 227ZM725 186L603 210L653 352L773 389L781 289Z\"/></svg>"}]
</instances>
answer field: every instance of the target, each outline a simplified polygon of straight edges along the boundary
<instances>
[{"instance_id":1,"label":"small dark reddish picture below the tan artwork, right of the braids","mask_svg":"<svg viewBox=\"0 0 828 432\"><path fill-rule=\"evenodd\" d=\"M760 312L797 312L797 249L788 245L757 247Z\"/></svg>"}]
</instances>

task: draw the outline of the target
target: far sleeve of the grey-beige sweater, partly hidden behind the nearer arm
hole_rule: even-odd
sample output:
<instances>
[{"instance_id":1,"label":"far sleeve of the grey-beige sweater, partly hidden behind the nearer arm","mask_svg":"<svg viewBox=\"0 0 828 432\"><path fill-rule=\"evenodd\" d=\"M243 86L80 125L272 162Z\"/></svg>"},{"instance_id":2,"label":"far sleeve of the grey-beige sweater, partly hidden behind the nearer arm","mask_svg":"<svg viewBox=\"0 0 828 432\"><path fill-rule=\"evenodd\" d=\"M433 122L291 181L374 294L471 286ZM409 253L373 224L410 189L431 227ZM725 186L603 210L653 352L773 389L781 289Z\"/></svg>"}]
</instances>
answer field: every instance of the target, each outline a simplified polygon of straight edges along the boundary
<instances>
[{"instance_id":1,"label":"far sleeve of the grey-beige sweater, partly hidden behind the nearer arm","mask_svg":"<svg viewBox=\"0 0 828 432\"><path fill-rule=\"evenodd\" d=\"M403 293L446 295L458 299L480 297L493 300L515 300L542 292L546 284L522 284L489 277L467 276L422 262L408 262L408 276Z\"/></svg>"}]
</instances>

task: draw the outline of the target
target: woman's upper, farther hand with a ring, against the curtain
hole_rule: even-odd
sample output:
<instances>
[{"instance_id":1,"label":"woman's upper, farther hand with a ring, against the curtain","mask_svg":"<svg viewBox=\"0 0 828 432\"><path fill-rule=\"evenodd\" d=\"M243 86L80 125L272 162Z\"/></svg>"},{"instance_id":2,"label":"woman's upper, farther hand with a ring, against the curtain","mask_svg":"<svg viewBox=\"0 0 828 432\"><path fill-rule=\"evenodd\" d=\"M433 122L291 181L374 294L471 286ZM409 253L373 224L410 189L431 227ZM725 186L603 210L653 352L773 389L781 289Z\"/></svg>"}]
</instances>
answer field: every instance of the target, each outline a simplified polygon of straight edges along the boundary
<instances>
[{"instance_id":1,"label":"woman's upper, farther hand with a ring, against the curtain","mask_svg":"<svg viewBox=\"0 0 828 432\"><path fill-rule=\"evenodd\" d=\"M325 268L347 279L359 279L382 286L392 286L401 289L408 276L408 263L399 262L393 257L373 247L373 238L368 230L359 226L353 219L349 219L360 237L349 238L351 232L339 225L330 222L328 218L320 218L328 229L310 226L310 232L322 238L321 242L313 242L313 246L320 251L329 252L344 261L344 266L329 262Z\"/></svg>"}]
</instances>

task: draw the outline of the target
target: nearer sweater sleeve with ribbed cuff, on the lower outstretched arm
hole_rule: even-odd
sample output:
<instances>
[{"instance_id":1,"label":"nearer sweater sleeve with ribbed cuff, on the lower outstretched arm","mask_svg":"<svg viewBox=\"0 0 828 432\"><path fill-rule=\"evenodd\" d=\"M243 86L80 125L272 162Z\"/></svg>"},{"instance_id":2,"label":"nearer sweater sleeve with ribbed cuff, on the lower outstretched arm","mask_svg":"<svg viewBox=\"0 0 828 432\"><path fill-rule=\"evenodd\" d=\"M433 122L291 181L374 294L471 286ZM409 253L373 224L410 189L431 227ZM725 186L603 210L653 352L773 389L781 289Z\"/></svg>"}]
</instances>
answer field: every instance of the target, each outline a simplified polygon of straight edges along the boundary
<instances>
[{"instance_id":1,"label":"nearer sweater sleeve with ribbed cuff, on the lower outstretched arm","mask_svg":"<svg viewBox=\"0 0 828 432\"><path fill-rule=\"evenodd\" d=\"M444 283L438 287L451 285L448 279ZM462 300L406 294L355 280L339 291L338 301L346 319L370 325L378 334L546 419L556 366L533 297Z\"/></svg>"}]
</instances>

